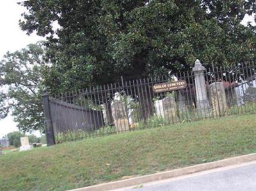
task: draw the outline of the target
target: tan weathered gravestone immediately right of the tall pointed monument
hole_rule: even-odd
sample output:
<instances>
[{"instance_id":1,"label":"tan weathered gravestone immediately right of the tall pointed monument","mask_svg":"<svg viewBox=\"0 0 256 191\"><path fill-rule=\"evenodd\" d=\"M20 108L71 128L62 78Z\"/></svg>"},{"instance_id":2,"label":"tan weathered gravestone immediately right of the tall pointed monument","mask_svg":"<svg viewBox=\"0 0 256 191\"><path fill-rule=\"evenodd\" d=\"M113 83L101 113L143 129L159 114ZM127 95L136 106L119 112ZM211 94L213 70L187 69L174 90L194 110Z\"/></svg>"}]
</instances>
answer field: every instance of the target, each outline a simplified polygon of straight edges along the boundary
<instances>
[{"instance_id":1,"label":"tan weathered gravestone immediately right of the tall pointed monument","mask_svg":"<svg viewBox=\"0 0 256 191\"><path fill-rule=\"evenodd\" d=\"M210 86L212 112L215 117L223 116L227 109L227 101L223 82L214 82Z\"/></svg>"}]
</instances>

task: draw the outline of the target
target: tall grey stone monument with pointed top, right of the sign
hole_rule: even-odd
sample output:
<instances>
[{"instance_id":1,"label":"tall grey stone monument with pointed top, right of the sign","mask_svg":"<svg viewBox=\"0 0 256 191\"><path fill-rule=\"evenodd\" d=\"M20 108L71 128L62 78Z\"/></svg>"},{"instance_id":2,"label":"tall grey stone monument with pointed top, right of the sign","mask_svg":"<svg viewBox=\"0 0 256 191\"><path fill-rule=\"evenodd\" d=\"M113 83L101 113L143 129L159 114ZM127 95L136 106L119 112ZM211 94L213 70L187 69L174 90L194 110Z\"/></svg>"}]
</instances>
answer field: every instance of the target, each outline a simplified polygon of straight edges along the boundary
<instances>
[{"instance_id":1,"label":"tall grey stone monument with pointed top, right of the sign","mask_svg":"<svg viewBox=\"0 0 256 191\"><path fill-rule=\"evenodd\" d=\"M195 67L192 68L192 71L195 73L196 110L203 116L207 116L210 112L210 104L205 86L205 67L196 59Z\"/></svg>"}]
</instances>

